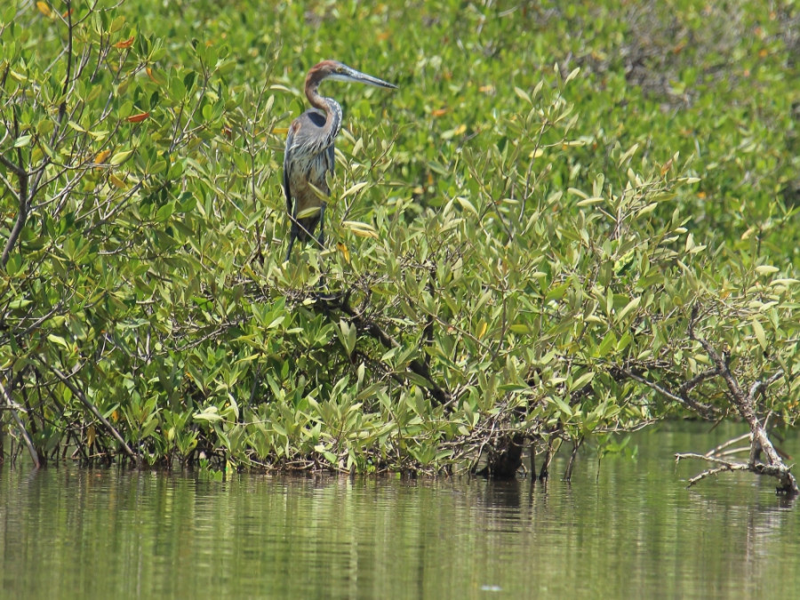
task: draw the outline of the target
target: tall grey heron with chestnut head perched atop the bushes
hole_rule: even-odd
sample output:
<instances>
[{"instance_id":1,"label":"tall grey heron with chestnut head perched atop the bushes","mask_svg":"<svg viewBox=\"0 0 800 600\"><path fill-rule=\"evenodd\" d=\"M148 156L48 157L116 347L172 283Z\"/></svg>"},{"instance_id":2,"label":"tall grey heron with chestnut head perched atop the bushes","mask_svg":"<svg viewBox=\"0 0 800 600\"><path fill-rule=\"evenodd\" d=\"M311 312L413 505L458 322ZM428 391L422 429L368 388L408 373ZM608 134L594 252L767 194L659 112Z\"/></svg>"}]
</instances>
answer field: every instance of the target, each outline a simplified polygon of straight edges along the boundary
<instances>
[{"instance_id":1,"label":"tall grey heron with chestnut head perched atop the bushes","mask_svg":"<svg viewBox=\"0 0 800 600\"><path fill-rule=\"evenodd\" d=\"M324 247L324 196L331 193L325 178L333 172L333 142L341 130L339 102L318 92L319 84L325 79L397 88L395 84L356 71L337 60L323 60L308 71L306 98L313 108L292 121L286 136L284 194L292 228L285 260L292 255L295 240L305 243L309 237L313 238L317 223L316 242L320 248Z\"/></svg>"}]
</instances>

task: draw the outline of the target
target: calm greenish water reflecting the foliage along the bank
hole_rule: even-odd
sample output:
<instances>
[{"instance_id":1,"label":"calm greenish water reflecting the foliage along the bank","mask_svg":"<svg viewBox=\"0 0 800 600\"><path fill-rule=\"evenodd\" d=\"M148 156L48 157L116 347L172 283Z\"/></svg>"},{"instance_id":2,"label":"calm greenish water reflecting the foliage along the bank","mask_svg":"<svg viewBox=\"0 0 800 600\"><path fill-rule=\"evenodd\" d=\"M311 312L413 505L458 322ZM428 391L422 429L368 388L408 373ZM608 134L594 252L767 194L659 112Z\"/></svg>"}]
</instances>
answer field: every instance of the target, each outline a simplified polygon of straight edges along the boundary
<instances>
[{"instance_id":1,"label":"calm greenish water reflecting the foliage along the bank","mask_svg":"<svg viewBox=\"0 0 800 600\"><path fill-rule=\"evenodd\" d=\"M771 480L685 489L699 466L673 452L736 433L706 429L637 435L599 470L586 452L572 485L6 467L0 596L795 596L797 508Z\"/></svg>"}]
</instances>

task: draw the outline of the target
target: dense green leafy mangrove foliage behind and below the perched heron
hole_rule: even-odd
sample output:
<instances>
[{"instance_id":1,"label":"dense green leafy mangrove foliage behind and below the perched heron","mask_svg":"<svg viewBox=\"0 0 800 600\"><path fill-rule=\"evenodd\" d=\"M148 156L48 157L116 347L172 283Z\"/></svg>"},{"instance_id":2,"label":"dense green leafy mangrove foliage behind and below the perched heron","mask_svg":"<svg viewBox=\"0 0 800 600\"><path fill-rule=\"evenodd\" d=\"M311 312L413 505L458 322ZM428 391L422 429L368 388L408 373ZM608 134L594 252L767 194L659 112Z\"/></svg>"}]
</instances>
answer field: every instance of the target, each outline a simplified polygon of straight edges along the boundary
<instances>
[{"instance_id":1,"label":"dense green leafy mangrove foliage behind and below the perched heron","mask_svg":"<svg viewBox=\"0 0 800 600\"><path fill-rule=\"evenodd\" d=\"M743 387L778 373L757 411L791 425L795 9L562 4L6 6L4 430L463 467L732 414L700 340ZM400 89L324 84L329 247L284 263L285 128L324 58Z\"/></svg>"}]
</instances>

